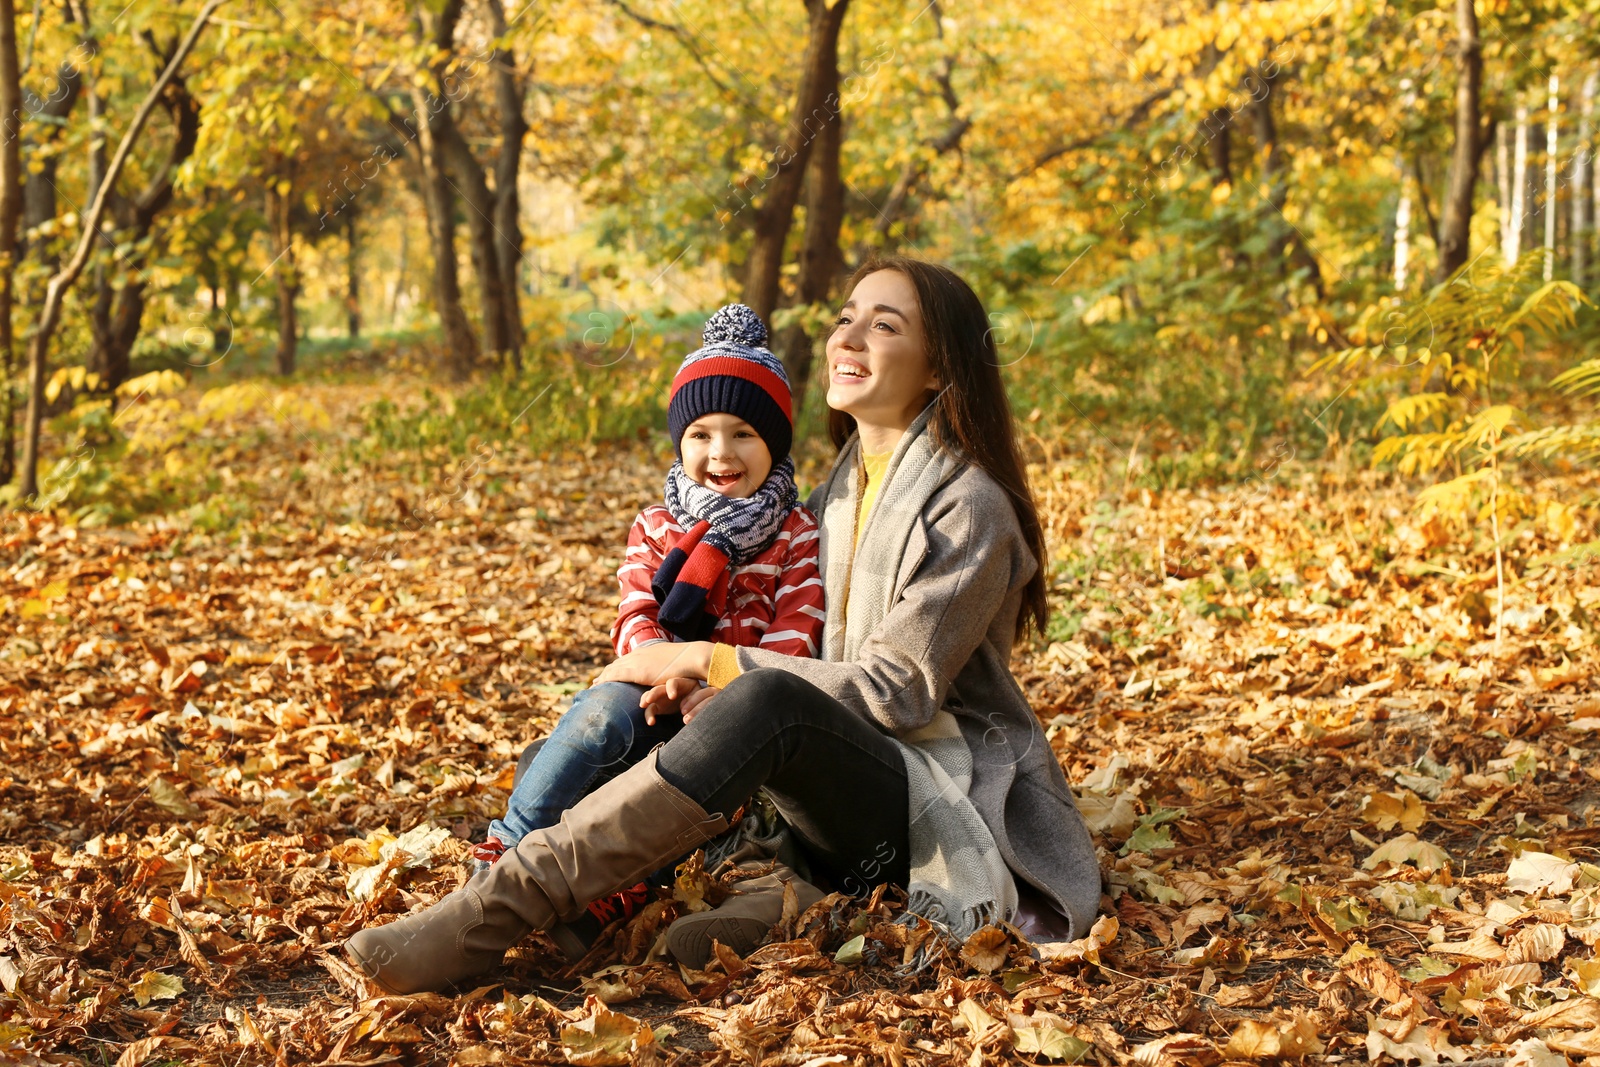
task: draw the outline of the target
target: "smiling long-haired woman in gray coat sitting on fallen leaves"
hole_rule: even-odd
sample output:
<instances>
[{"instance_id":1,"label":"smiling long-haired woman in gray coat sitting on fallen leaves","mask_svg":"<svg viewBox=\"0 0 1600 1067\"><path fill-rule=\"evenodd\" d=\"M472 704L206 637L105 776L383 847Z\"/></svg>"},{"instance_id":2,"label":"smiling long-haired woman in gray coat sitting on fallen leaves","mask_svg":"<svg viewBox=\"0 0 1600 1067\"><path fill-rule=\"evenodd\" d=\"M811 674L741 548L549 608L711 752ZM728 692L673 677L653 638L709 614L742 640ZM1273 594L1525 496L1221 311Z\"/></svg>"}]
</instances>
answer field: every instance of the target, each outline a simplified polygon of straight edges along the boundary
<instances>
[{"instance_id":1,"label":"smiling long-haired woman in gray coat sitting on fallen leaves","mask_svg":"<svg viewBox=\"0 0 1600 1067\"><path fill-rule=\"evenodd\" d=\"M840 446L810 506L822 522L821 659L656 643L603 681L718 691L675 737L522 838L434 907L346 949L379 985L443 989L499 965L530 929L728 829L757 789L811 865L957 934L997 918L1082 936L1099 867L1061 766L1011 677L1043 627L1043 531L989 318L954 272L866 264L827 341Z\"/></svg>"}]
</instances>

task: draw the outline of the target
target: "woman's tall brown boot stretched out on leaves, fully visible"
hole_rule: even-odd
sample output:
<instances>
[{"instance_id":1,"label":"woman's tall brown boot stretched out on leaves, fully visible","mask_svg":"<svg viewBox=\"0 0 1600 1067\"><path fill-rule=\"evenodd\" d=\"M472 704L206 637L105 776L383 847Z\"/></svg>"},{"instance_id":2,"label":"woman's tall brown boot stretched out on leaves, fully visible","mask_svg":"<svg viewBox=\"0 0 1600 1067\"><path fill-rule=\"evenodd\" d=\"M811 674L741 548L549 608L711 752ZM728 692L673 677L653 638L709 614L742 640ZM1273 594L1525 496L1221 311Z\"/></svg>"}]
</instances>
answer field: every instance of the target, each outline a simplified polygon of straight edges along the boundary
<instances>
[{"instance_id":1,"label":"woman's tall brown boot stretched out on leaves, fully visible","mask_svg":"<svg viewBox=\"0 0 1600 1067\"><path fill-rule=\"evenodd\" d=\"M370 926L344 950L392 993L440 990L483 974L533 929L578 918L597 897L728 829L656 771L656 753L534 830L438 904Z\"/></svg>"}]
</instances>

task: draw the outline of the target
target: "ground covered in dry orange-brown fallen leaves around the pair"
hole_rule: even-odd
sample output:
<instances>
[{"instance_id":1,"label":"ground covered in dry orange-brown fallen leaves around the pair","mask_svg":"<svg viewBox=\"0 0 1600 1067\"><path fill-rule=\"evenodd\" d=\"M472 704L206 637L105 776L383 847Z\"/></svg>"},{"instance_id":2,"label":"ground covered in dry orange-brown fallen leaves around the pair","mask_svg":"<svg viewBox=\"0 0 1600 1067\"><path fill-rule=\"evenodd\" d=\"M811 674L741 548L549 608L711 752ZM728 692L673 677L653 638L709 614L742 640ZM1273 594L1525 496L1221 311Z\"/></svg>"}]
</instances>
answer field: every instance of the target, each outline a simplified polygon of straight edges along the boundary
<instances>
[{"instance_id":1,"label":"ground covered in dry orange-brown fallen leaves around the pair","mask_svg":"<svg viewBox=\"0 0 1600 1067\"><path fill-rule=\"evenodd\" d=\"M574 971L534 937L376 997L336 945L462 878L605 662L662 459L485 445L418 482L342 458L370 395L210 427L224 531L10 518L0 1059L1600 1064L1594 568L1518 531L1496 641L1491 557L1405 486L1154 493L1045 442L1058 619L1016 669L1104 846L1088 937L947 947L882 893L685 973L651 947L720 891L690 872Z\"/></svg>"}]
</instances>

